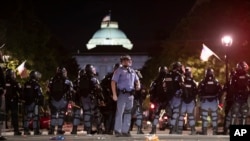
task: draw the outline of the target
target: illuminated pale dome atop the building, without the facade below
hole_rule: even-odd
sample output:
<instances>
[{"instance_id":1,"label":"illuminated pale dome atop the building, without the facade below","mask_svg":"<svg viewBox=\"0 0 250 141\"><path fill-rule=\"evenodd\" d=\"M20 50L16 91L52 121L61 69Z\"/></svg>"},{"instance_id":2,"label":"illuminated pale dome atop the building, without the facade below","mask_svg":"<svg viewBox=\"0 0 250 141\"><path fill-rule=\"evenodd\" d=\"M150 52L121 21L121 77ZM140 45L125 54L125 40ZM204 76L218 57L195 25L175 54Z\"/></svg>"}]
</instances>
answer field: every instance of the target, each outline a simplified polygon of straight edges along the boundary
<instances>
[{"instance_id":1,"label":"illuminated pale dome atop the building, without the facade below","mask_svg":"<svg viewBox=\"0 0 250 141\"><path fill-rule=\"evenodd\" d=\"M95 32L86 46L87 49L96 46L122 46L131 50L133 44L131 44L125 33L118 29L117 22L104 21L101 23L101 29Z\"/></svg>"}]
</instances>

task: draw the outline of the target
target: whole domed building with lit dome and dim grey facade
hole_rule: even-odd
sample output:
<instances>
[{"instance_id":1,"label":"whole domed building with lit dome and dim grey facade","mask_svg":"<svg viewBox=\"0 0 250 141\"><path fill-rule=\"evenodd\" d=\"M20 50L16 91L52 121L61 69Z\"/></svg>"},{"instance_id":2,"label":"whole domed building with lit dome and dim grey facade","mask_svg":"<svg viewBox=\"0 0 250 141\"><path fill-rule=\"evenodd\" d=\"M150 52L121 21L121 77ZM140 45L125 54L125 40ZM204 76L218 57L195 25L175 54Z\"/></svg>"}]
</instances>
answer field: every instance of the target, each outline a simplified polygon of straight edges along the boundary
<instances>
[{"instance_id":1,"label":"whole domed building with lit dome and dim grey facade","mask_svg":"<svg viewBox=\"0 0 250 141\"><path fill-rule=\"evenodd\" d=\"M99 79L112 72L113 65L120 62L121 55L131 56L134 69L141 69L148 60L147 53L133 51L133 44L119 29L118 22L110 20L101 22L101 28L94 33L86 48L86 52L78 52L74 57L80 68L86 64L94 65Z\"/></svg>"}]
</instances>

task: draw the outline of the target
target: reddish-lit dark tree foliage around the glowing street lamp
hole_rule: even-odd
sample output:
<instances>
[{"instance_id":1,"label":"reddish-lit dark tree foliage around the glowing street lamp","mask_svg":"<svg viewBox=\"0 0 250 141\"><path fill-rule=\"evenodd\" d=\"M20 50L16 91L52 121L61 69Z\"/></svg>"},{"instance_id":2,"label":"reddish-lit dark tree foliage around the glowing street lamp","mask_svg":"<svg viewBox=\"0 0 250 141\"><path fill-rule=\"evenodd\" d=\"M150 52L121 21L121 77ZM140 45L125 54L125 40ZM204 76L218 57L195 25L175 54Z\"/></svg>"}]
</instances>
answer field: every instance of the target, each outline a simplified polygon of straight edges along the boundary
<instances>
[{"instance_id":1,"label":"reddish-lit dark tree foliage around the glowing street lamp","mask_svg":"<svg viewBox=\"0 0 250 141\"><path fill-rule=\"evenodd\" d=\"M156 76L161 65L171 67L174 61L181 61L184 65L193 68L196 80L204 76L207 67L215 69L217 78L225 80L224 55L229 58L229 68L238 61L250 62L250 2L248 0L197 0L196 4L187 13L168 39L161 43L163 50L152 56L143 73L149 76L147 83ZM223 35L233 37L233 45L225 48L221 44ZM220 56L221 60L211 57L208 62L199 59L202 44Z\"/></svg>"}]
</instances>

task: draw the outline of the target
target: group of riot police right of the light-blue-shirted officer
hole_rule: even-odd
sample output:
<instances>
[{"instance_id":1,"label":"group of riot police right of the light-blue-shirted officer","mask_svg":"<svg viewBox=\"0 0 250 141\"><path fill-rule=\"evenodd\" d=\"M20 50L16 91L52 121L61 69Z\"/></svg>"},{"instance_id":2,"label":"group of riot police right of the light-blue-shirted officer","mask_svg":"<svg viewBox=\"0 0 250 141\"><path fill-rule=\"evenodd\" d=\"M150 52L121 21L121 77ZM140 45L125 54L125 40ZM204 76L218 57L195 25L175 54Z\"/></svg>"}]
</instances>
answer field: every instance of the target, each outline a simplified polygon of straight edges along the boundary
<instances>
[{"instance_id":1,"label":"group of riot police right of the light-blue-shirted officer","mask_svg":"<svg viewBox=\"0 0 250 141\"><path fill-rule=\"evenodd\" d=\"M200 134L207 135L208 116L211 114L213 135L217 135L218 110L223 106L223 99L226 102L224 134L227 134L230 124L246 124L250 90L246 62L236 65L236 71L231 72L230 81L224 87L216 79L212 68L207 68L204 78L196 82L190 67L184 68L180 62L173 63L171 67L171 70L166 66L159 67L159 74L150 86L150 102L155 106L150 134L156 133L161 110L165 110L168 116L169 134L182 134L186 115L191 134L197 134L195 108L199 102L202 120ZM225 92L226 95L223 95Z\"/></svg>"}]
</instances>

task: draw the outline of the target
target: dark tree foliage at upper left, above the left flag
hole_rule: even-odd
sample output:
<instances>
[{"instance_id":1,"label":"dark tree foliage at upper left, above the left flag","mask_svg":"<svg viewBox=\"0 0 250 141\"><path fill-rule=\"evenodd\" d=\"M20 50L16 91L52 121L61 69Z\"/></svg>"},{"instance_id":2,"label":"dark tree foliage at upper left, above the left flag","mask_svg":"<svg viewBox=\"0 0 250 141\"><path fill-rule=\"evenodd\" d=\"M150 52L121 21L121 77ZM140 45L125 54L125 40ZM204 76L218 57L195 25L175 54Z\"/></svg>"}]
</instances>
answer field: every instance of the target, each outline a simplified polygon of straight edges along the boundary
<instances>
[{"instance_id":1,"label":"dark tree foliage at upper left, above the left flag","mask_svg":"<svg viewBox=\"0 0 250 141\"><path fill-rule=\"evenodd\" d=\"M36 16L32 0L7 2L1 13L0 44L6 44L1 51L12 57L9 65L17 62L12 66L15 68L26 60L25 67L41 72L43 83L55 74L58 66L78 71L70 52ZM68 74L76 78L76 73Z\"/></svg>"}]
</instances>

